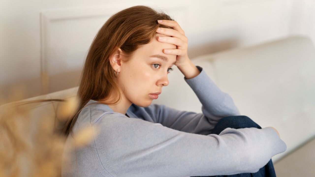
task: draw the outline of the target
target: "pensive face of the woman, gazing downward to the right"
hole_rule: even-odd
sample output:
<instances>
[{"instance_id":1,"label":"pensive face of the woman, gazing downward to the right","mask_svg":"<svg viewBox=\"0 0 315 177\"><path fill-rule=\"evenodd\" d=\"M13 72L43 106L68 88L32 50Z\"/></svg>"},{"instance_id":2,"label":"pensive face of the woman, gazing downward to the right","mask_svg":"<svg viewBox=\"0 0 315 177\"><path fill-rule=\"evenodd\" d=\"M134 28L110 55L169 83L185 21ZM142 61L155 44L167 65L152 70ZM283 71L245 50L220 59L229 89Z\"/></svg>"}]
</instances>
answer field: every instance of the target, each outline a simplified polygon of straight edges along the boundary
<instances>
[{"instance_id":1,"label":"pensive face of the woman, gazing downward to the right","mask_svg":"<svg viewBox=\"0 0 315 177\"><path fill-rule=\"evenodd\" d=\"M169 68L175 66L176 55L165 54L163 49L176 49L177 47L174 44L159 42L158 36L165 35L157 33L152 42L141 45L128 62L120 62L117 82L122 91L123 88L125 89L122 96L126 103L130 101L130 105L134 103L141 107L150 106L153 98L149 94L162 92L162 87L169 85L167 78L171 71ZM168 60L164 61L153 55L160 55Z\"/></svg>"}]
</instances>

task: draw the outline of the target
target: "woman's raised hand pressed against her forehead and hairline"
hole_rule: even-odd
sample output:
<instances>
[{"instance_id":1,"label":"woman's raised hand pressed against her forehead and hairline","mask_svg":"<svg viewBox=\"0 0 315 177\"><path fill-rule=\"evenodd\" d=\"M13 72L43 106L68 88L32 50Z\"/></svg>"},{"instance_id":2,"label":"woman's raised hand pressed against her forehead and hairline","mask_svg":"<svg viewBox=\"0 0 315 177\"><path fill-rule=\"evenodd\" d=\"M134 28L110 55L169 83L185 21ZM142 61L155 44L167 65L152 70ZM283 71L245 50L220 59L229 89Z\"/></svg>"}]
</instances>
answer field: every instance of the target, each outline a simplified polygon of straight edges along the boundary
<instances>
[{"instance_id":1,"label":"woman's raised hand pressed against her forehead and hairline","mask_svg":"<svg viewBox=\"0 0 315 177\"><path fill-rule=\"evenodd\" d=\"M185 36L185 32L181 29L181 27L175 20L162 20L162 22L159 22L159 20L157 20L157 22L159 24L173 27L173 29L160 27L161 30L156 32L170 37L163 36L162 40L159 40L159 38L157 38L157 40L162 43L171 43L177 46L177 49L167 49L169 52L165 52L164 49L163 52L165 54L177 55L175 66L185 66L187 64L189 65L190 60L187 54L188 38Z\"/></svg>"}]
</instances>

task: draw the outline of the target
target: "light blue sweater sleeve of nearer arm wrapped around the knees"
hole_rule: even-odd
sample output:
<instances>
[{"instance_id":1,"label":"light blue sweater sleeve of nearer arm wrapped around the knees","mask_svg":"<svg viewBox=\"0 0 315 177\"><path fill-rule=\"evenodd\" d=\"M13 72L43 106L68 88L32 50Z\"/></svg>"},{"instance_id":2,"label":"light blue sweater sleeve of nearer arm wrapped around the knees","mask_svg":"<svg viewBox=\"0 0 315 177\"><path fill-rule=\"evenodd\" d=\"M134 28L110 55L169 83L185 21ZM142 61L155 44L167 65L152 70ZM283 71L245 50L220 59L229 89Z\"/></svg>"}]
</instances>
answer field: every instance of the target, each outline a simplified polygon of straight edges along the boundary
<instances>
[{"instance_id":1,"label":"light blue sweater sleeve of nearer arm wrapped around the knees","mask_svg":"<svg viewBox=\"0 0 315 177\"><path fill-rule=\"evenodd\" d=\"M100 163L113 177L255 173L286 150L269 127L226 128L219 135L201 135L119 113L104 114L92 127L97 130L94 141Z\"/></svg>"}]
</instances>

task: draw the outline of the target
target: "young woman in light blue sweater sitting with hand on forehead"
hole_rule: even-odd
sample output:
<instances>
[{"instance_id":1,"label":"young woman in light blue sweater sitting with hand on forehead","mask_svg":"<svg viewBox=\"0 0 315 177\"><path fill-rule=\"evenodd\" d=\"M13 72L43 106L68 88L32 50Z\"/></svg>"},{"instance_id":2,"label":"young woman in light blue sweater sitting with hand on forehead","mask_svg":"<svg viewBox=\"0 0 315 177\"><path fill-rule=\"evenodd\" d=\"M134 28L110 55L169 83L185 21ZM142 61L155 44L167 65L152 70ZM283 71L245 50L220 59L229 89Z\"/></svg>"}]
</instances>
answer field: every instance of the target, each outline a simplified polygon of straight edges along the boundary
<instances>
[{"instance_id":1,"label":"young woman in light blue sweater sitting with hand on forehead","mask_svg":"<svg viewBox=\"0 0 315 177\"><path fill-rule=\"evenodd\" d=\"M97 133L70 154L63 176L275 176L271 157L285 143L275 129L239 115L232 98L192 64L187 41L176 21L146 6L106 21L85 61L66 146L75 146L72 135L83 127ZM174 65L202 113L151 104Z\"/></svg>"}]
</instances>

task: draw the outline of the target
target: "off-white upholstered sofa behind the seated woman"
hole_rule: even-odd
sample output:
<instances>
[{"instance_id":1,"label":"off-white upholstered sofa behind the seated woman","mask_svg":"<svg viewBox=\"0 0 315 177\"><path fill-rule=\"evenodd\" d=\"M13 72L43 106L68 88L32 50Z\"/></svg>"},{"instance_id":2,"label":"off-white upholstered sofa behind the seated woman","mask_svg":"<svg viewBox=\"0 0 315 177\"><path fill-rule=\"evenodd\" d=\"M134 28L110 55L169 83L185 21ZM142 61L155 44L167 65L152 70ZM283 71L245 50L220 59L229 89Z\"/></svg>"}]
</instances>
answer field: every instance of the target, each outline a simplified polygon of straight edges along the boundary
<instances>
[{"instance_id":1,"label":"off-white upholstered sofa behind the seated woman","mask_svg":"<svg viewBox=\"0 0 315 177\"><path fill-rule=\"evenodd\" d=\"M277 162L288 154L292 156L297 147L314 138L315 48L308 37L292 36L247 48L206 54L191 60L203 67L222 91L231 95L242 115L250 117L261 127L272 126L278 130L281 139L287 144L287 150L272 157L274 164L278 165ZM163 87L159 99L152 103L201 112L197 96L176 66L174 68L169 74L169 85ZM76 92L77 87L74 87L26 100L65 99L75 96ZM9 104L0 107L5 108ZM54 114L58 104L33 104L31 115L43 111ZM34 126L36 122L34 120ZM291 163L282 161L279 163ZM311 168L314 162L305 165ZM275 169L279 175L278 169ZM288 168L282 172L302 173L296 170Z\"/></svg>"}]
</instances>

